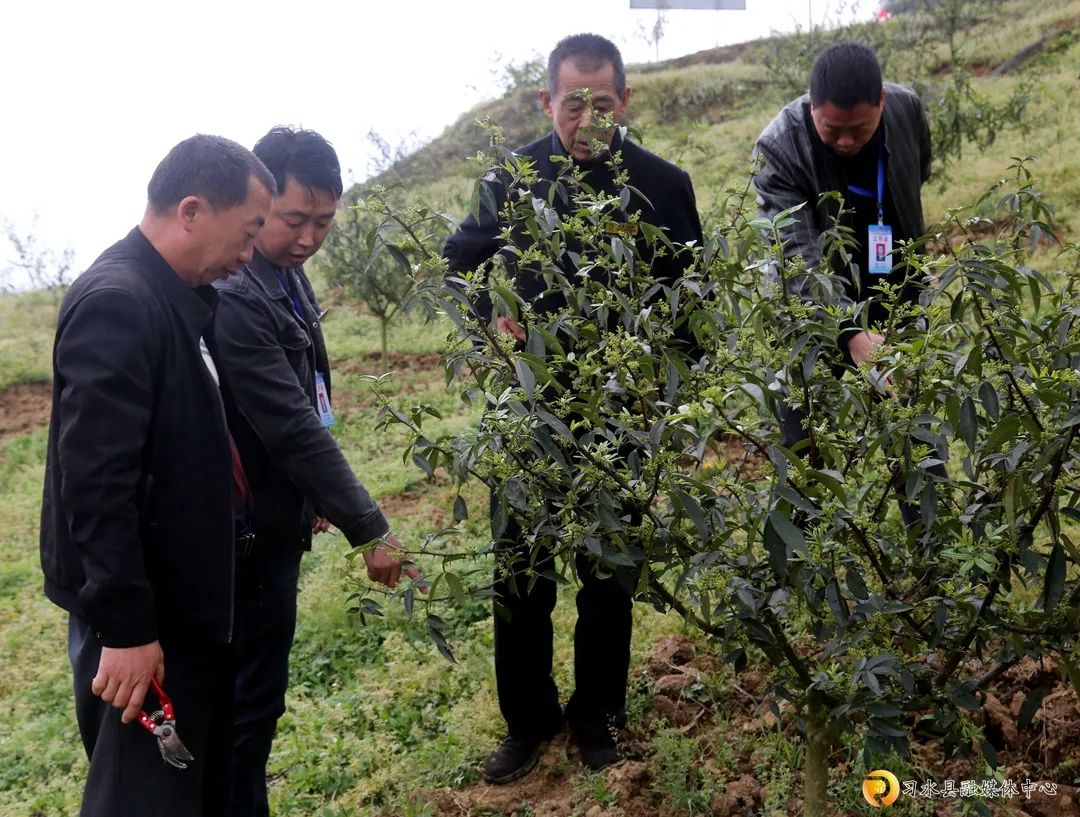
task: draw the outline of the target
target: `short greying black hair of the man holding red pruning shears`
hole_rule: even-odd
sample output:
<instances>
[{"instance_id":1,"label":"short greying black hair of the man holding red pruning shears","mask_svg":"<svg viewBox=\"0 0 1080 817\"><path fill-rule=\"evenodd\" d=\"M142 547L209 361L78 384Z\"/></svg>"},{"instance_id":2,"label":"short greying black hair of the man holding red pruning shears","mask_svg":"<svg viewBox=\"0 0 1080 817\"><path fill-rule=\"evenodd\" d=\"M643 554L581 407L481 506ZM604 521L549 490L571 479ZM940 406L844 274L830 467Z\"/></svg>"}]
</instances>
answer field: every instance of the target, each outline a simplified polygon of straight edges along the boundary
<instances>
[{"instance_id":1,"label":"short greying black hair of the man holding red pruning shears","mask_svg":"<svg viewBox=\"0 0 1080 817\"><path fill-rule=\"evenodd\" d=\"M176 145L158 164L146 187L150 209L166 213L188 196L214 210L247 200L252 178L273 192L273 176L251 150L224 136L197 133Z\"/></svg>"}]
</instances>

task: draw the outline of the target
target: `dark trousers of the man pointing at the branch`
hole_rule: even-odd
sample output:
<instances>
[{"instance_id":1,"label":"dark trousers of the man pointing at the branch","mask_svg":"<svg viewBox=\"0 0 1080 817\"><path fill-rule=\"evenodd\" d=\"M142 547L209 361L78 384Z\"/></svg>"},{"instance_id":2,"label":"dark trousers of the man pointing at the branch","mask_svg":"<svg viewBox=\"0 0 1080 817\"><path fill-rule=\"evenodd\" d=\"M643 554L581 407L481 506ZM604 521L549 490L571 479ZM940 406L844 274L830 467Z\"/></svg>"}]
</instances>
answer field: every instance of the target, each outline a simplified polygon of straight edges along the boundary
<instances>
[{"instance_id":1,"label":"dark trousers of the man pointing at the branch","mask_svg":"<svg viewBox=\"0 0 1080 817\"><path fill-rule=\"evenodd\" d=\"M267 817L267 761L285 713L301 551L260 550L237 561L237 683L230 817Z\"/></svg>"}]
</instances>

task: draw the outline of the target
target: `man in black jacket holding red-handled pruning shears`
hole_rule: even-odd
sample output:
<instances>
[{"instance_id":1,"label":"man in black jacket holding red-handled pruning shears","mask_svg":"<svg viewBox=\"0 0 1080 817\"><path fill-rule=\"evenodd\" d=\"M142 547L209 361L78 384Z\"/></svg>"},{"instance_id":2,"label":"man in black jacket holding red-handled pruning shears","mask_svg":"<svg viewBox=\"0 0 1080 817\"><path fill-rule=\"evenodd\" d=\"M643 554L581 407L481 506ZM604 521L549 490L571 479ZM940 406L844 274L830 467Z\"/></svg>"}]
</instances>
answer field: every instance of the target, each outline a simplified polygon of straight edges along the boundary
<instances>
[{"instance_id":1,"label":"man in black jacket holding red-handled pruning shears","mask_svg":"<svg viewBox=\"0 0 1080 817\"><path fill-rule=\"evenodd\" d=\"M215 381L210 284L251 260L272 185L235 143L181 142L154 171L139 226L60 307L41 564L70 614L83 817L225 814L243 478ZM175 705L185 769L132 723L158 707L151 679Z\"/></svg>"}]
</instances>

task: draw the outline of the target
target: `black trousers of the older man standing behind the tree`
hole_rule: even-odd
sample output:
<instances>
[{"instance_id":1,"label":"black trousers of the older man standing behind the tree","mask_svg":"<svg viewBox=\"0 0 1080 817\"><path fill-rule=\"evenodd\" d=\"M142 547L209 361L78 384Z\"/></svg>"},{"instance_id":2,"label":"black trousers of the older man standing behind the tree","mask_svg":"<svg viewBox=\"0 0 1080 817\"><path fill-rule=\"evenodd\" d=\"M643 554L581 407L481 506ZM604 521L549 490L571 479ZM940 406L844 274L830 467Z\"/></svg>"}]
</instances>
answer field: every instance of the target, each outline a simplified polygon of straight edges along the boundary
<instances>
[{"instance_id":1,"label":"black trousers of the older man standing behind the tree","mask_svg":"<svg viewBox=\"0 0 1080 817\"><path fill-rule=\"evenodd\" d=\"M558 689L551 677L556 585L538 577L529 588L525 571L529 553L518 544L521 530L507 525L498 553L509 553L511 571L497 571L495 589L495 678L499 708L508 732L516 737L546 739L562 724ZM537 573L552 571L549 550L536 554ZM576 557L581 589L573 631L575 692L566 707L579 738L625 723L626 677L630 672L632 592L637 571L598 566L584 553ZM509 575L508 575L509 574ZM500 610L501 607L501 610Z\"/></svg>"}]
</instances>

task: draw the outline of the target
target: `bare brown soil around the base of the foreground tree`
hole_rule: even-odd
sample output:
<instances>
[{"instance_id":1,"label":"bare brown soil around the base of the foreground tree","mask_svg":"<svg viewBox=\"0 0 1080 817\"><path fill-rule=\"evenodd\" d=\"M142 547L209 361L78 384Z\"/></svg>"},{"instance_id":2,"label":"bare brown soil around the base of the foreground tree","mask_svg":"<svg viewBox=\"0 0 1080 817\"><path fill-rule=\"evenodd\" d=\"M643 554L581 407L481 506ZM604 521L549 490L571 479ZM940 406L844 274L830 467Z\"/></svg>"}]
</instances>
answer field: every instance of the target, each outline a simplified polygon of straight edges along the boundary
<instances>
[{"instance_id":1,"label":"bare brown soil around the base of the foreground tree","mask_svg":"<svg viewBox=\"0 0 1080 817\"><path fill-rule=\"evenodd\" d=\"M700 747L694 768L702 780L726 780L712 795L706 812L714 817L750 817L762 813L770 780L759 778L768 767L761 754L765 731L783 731L797 740L795 712L781 704L780 718L768 705L769 675L760 669L734 675L721 664L707 644L685 637L669 637L659 642L638 671L650 689L651 710L643 722L622 734L622 751L627 760L606 769L603 781L581 775L580 758L573 738L565 732L544 749L539 766L524 779L508 786L475 783L460 790L433 789L420 792L421 802L430 804L435 817L674 817L684 811L671 809L658 790L661 761L653 734L658 727L674 726ZM716 699L701 697L702 682L726 673L728 692ZM1030 725L1018 724L1021 708L1032 688L1045 692L1042 705ZM1034 790L1011 798L1008 808L994 803L994 817L1080 817L1077 791L1063 781L1071 781L1070 772L1080 762L1080 701L1051 659L1025 658L998 679L983 698L984 707L971 713L984 735L997 749L1003 779L1017 786L1025 779L1038 782L1058 781L1056 793ZM1025 726L1022 728L1021 726ZM733 753L721 760L718 747ZM933 778L982 780L984 760L977 747L968 747L970 756L946 751L941 742L913 741L913 753L922 768L933 771ZM843 769L838 769L841 774ZM774 781L773 781L774 783ZM794 794L783 811L795 817L801 814L798 774L785 789ZM605 792L603 802L593 794ZM960 813L956 800L937 799L934 817L955 817ZM837 817L839 814L836 813ZM384 816L389 817L389 816Z\"/></svg>"}]
</instances>

